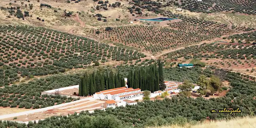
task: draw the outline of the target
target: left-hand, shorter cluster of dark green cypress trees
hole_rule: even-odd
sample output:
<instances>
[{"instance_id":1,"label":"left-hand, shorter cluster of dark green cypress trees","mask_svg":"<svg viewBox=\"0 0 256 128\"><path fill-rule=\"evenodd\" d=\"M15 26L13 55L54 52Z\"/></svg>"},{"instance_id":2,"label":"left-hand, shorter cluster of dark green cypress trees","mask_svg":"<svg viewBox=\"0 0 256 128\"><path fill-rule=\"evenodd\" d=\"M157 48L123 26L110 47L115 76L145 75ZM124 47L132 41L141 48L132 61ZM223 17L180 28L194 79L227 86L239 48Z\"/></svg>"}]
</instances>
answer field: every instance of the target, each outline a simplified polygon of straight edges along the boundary
<instances>
[{"instance_id":1,"label":"left-hand, shorter cluster of dark green cypress trees","mask_svg":"<svg viewBox=\"0 0 256 128\"><path fill-rule=\"evenodd\" d=\"M119 74L114 74L111 70L107 71L94 71L91 74L85 73L80 77L79 83L79 96L93 95L96 92L125 87L124 77Z\"/></svg>"}]
</instances>

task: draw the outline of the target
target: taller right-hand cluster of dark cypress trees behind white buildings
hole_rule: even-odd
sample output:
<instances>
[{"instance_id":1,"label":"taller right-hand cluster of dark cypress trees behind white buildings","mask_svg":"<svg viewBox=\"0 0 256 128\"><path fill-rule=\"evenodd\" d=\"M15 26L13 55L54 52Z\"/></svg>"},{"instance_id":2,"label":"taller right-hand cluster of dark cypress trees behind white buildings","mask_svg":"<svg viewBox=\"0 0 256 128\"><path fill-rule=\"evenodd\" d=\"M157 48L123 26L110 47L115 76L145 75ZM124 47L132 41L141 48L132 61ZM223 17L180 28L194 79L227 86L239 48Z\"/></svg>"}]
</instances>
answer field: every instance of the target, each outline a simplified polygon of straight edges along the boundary
<instances>
[{"instance_id":1,"label":"taller right-hand cluster of dark cypress trees behind white buildings","mask_svg":"<svg viewBox=\"0 0 256 128\"><path fill-rule=\"evenodd\" d=\"M151 64L146 68L140 67L135 71L130 71L127 77L127 85L129 88L140 88L141 91L159 91L166 88L162 71L162 63L158 60L157 64Z\"/></svg>"}]
</instances>

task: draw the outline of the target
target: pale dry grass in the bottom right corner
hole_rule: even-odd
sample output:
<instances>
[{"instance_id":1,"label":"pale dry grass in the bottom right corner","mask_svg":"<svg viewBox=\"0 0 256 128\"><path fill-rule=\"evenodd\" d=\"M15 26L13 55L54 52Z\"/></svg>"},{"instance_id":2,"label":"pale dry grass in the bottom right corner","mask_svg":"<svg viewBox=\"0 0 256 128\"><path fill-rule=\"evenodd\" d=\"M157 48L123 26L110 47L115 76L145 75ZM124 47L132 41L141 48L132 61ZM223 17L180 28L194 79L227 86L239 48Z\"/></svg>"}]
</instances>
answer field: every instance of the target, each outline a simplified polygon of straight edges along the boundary
<instances>
[{"instance_id":1,"label":"pale dry grass in the bottom right corner","mask_svg":"<svg viewBox=\"0 0 256 128\"><path fill-rule=\"evenodd\" d=\"M162 127L148 127L148 128L256 128L256 117L236 118L234 120L221 120L213 122L204 122L202 124L186 124L185 126L162 126Z\"/></svg>"}]
</instances>

